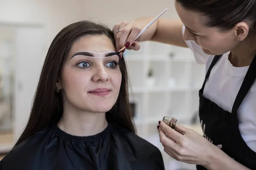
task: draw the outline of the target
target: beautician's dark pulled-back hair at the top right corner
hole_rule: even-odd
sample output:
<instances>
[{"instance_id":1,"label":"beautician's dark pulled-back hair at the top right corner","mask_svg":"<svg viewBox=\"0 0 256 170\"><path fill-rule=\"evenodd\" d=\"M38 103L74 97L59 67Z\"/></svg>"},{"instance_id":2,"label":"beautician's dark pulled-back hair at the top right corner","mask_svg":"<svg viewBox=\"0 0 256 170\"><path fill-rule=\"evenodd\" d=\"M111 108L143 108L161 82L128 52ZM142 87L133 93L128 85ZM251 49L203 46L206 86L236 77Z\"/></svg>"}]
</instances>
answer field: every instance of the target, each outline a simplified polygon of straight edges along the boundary
<instances>
[{"instance_id":1,"label":"beautician's dark pulled-back hair at the top right corner","mask_svg":"<svg viewBox=\"0 0 256 170\"><path fill-rule=\"evenodd\" d=\"M218 27L222 31L247 21L250 32L256 32L256 0L176 0L184 8L207 17L205 26Z\"/></svg>"}]
</instances>

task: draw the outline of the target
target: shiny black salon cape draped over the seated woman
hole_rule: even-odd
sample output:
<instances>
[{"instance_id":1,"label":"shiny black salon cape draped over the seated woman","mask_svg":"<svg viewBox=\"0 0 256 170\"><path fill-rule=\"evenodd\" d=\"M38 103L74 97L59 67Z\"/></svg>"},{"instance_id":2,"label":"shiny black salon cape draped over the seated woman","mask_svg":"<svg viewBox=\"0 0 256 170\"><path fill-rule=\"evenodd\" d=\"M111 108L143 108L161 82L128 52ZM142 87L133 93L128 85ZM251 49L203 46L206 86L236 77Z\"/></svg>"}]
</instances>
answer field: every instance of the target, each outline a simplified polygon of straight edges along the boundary
<instances>
[{"instance_id":1,"label":"shiny black salon cape draped over the seated woman","mask_svg":"<svg viewBox=\"0 0 256 170\"><path fill-rule=\"evenodd\" d=\"M0 170L164 170L157 147L122 127L94 136L64 133L56 125L30 137L0 161Z\"/></svg>"}]
</instances>

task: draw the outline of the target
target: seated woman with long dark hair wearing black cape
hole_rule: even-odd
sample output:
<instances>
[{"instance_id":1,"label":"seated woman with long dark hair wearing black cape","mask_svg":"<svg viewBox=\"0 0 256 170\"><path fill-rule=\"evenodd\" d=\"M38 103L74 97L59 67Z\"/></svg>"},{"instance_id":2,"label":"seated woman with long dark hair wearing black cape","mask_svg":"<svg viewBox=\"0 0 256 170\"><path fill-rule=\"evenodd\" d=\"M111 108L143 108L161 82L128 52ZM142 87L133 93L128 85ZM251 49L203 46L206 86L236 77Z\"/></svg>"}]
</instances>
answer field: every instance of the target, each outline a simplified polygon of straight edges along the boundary
<instances>
[{"instance_id":1,"label":"seated woman with long dark hair wearing black cape","mask_svg":"<svg viewBox=\"0 0 256 170\"><path fill-rule=\"evenodd\" d=\"M80 21L62 29L0 170L163 170L157 147L135 134L127 79L109 28Z\"/></svg>"}]
</instances>

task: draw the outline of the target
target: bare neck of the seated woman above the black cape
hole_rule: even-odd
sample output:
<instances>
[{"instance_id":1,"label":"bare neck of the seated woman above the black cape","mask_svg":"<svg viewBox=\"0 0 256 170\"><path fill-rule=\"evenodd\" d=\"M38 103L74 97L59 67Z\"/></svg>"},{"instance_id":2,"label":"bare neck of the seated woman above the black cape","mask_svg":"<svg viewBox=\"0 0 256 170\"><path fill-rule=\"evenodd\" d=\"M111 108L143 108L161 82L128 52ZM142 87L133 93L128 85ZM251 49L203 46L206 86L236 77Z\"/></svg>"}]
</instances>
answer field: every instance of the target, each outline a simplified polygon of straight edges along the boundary
<instances>
[{"instance_id":1,"label":"bare neck of the seated woman above the black cape","mask_svg":"<svg viewBox=\"0 0 256 170\"><path fill-rule=\"evenodd\" d=\"M105 113L81 111L70 105L65 106L63 115L57 124L65 133L73 136L93 136L108 126Z\"/></svg>"}]
</instances>

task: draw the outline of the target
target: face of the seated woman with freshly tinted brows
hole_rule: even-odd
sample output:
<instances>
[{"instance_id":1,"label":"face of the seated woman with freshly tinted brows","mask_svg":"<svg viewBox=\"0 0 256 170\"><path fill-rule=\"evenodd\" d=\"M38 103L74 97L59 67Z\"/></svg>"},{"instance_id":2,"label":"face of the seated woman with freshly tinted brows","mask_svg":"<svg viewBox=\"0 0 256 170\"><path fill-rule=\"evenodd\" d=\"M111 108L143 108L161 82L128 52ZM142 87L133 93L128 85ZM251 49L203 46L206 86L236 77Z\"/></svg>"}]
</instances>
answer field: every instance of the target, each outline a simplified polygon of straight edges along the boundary
<instances>
[{"instance_id":1,"label":"face of the seated woman with freshly tinted brows","mask_svg":"<svg viewBox=\"0 0 256 170\"><path fill-rule=\"evenodd\" d=\"M89 51L91 57L86 57L90 56L88 52L76 55L83 51ZM64 108L103 113L113 107L122 75L119 57L105 57L111 51L115 47L105 35L82 37L73 44L57 84L62 89Z\"/></svg>"}]
</instances>

